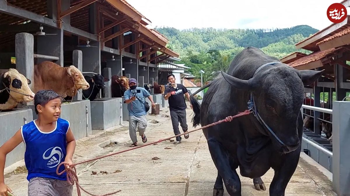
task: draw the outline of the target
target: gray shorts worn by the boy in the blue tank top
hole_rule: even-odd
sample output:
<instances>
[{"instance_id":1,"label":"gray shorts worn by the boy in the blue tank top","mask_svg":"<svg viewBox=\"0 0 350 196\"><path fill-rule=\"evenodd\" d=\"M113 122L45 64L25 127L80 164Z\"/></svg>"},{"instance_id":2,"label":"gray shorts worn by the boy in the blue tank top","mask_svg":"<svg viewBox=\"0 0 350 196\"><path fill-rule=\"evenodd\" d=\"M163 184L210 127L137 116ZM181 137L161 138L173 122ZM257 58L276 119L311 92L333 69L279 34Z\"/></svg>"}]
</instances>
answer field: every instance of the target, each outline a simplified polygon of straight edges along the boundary
<instances>
[{"instance_id":1,"label":"gray shorts worn by the boy in the blue tank top","mask_svg":"<svg viewBox=\"0 0 350 196\"><path fill-rule=\"evenodd\" d=\"M65 180L35 177L29 180L28 196L71 196L72 189Z\"/></svg>"}]
</instances>

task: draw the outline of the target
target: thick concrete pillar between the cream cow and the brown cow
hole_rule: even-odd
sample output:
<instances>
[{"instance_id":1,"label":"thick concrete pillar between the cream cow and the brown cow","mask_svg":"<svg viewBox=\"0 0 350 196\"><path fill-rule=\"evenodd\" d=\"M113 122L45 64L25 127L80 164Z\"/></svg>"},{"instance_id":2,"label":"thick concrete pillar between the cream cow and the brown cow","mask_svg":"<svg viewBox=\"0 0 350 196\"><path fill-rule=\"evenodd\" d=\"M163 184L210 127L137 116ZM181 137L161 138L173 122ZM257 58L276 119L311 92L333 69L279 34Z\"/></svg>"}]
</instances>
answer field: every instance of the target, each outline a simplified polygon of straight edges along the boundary
<instances>
[{"instance_id":1,"label":"thick concrete pillar between the cream cow and the brown cow","mask_svg":"<svg viewBox=\"0 0 350 196\"><path fill-rule=\"evenodd\" d=\"M34 92L34 36L30 33L17 33L15 51L16 69L31 81L29 88ZM34 101L25 104L34 105Z\"/></svg>"}]
</instances>

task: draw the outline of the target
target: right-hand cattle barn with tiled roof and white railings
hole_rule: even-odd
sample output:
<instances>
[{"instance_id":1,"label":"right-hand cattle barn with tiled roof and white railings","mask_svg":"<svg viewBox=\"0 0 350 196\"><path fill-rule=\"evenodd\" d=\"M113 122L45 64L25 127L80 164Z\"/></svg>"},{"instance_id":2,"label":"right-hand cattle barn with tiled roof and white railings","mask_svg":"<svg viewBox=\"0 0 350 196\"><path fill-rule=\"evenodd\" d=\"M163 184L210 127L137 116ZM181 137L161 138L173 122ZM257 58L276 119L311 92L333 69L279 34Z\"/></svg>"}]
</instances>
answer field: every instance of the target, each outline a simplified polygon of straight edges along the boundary
<instances>
[{"instance_id":1,"label":"right-hand cattle barn with tiled roof and white railings","mask_svg":"<svg viewBox=\"0 0 350 196\"><path fill-rule=\"evenodd\" d=\"M341 3L350 6L350 0ZM308 54L294 52L280 59L298 70L324 69L322 77L304 88L302 151L332 172L338 195L350 195L350 159L345 158L350 148L349 44L350 15L295 44Z\"/></svg>"}]
</instances>

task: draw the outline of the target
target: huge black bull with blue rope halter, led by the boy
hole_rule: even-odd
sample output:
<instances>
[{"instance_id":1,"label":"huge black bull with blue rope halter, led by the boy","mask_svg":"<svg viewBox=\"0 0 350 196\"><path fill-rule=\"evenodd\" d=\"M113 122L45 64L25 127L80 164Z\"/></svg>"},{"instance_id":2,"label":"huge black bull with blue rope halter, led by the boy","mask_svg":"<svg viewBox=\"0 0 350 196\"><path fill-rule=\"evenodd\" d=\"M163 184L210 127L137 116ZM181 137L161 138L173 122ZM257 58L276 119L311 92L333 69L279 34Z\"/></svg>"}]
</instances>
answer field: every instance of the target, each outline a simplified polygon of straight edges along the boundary
<instances>
[{"instance_id":1,"label":"huge black bull with blue rope halter, led by the boy","mask_svg":"<svg viewBox=\"0 0 350 196\"><path fill-rule=\"evenodd\" d=\"M262 67L263 64L278 62ZM223 182L228 193L241 195L241 184L236 169L242 176L252 178L256 189L266 190L261 176L270 167L275 171L269 194L285 195L285 189L299 161L303 119L304 85L321 76L322 71L297 70L254 47L247 47L233 59L227 74L191 95L193 125L202 126L247 110L250 93L256 109L283 144L270 133L253 114L235 118L203 129L211 158L218 175L213 195L222 196ZM202 106L193 97L209 87Z\"/></svg>"}]
</instances>

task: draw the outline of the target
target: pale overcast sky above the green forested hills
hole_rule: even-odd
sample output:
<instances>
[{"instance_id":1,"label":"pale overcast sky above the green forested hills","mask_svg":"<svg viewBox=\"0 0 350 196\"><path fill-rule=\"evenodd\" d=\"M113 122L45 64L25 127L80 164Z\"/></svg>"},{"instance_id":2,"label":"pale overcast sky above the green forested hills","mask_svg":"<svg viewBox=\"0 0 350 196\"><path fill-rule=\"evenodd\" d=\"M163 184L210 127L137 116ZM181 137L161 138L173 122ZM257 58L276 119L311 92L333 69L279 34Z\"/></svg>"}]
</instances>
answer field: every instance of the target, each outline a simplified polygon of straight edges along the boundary
<instances>
[{"instance_id":1,"label":"pale overcast sky above the green forested hills","mask_svg":"<svg viewBox=\"0 0 350 196\"><path fill-rule=\"evenodd\" d=\"M341 0L127 0L152 21L149 28L275 29L332 24L327 8ZM350 15L350 8L347 8Z\"/></svg>"}]
</instances>

